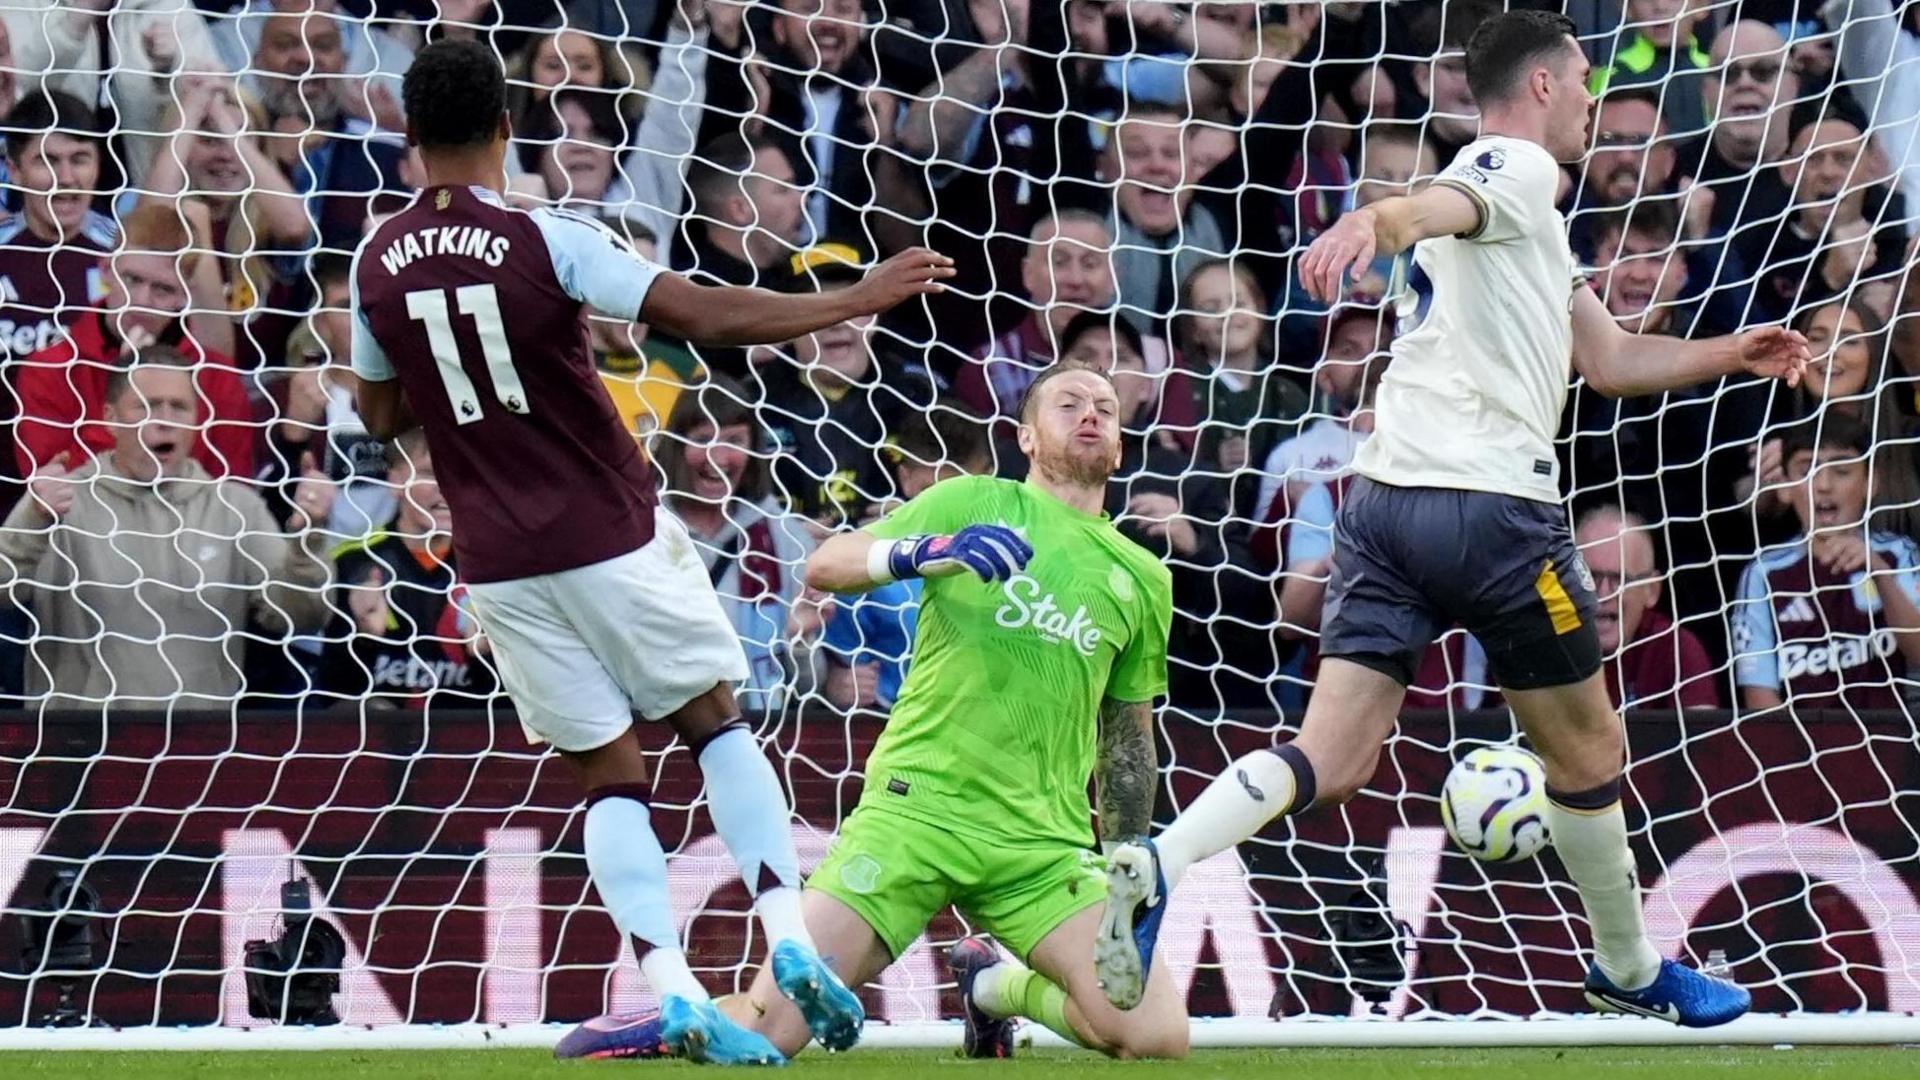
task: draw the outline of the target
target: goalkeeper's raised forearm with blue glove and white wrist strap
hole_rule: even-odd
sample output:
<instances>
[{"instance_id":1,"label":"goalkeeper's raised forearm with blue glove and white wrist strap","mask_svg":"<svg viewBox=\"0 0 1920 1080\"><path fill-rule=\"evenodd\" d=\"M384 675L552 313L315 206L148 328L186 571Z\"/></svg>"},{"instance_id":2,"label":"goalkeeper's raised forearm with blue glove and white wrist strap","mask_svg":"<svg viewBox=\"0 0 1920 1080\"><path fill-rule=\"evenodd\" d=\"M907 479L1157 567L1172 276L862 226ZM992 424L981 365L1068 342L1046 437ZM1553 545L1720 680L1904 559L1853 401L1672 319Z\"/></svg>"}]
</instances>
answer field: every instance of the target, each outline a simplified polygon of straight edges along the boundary
<instances>
[{"instance_id":1,"label":"goalkeeper's raised forearm with blue glove and white wrist strap","mask_svg":"<svg viewBox=\"0 0 1920 1080\"><path fill-rule=\"evenodd\" d=\"M806 559L806 584L822 592L868 592L889 580L973 573L1006 580L1025 569L1033 548L1004 525L968 525L950 536L879 540L864 528L829 536Z\"/></svg>"}]
</instances>

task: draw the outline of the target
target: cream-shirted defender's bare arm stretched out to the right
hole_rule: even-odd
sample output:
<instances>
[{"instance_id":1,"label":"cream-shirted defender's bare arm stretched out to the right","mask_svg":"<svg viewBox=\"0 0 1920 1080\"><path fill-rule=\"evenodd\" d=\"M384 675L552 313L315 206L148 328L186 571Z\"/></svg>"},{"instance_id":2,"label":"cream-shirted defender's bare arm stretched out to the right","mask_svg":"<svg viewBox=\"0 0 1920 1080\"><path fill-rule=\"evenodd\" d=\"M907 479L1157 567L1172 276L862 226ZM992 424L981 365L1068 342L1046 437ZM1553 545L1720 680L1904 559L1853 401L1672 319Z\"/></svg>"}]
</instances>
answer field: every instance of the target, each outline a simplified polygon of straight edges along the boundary
<instances>
[{"instance_id":1,"label":"cream-shirted defender's bare arm stretched out to the right","mask_svg":"<svg viewBox=\"0 0 1920 1080\"><path fill-rule=\"evenodd\" d=\"M1807 338L1786 327L1759 327L1707 340L1632 334L1580 286L1572 294L1572 365L1607 398L1682 390L1724 375L1761 375L1799 386L1812 354Z\"/></svg>"}]
</instances>

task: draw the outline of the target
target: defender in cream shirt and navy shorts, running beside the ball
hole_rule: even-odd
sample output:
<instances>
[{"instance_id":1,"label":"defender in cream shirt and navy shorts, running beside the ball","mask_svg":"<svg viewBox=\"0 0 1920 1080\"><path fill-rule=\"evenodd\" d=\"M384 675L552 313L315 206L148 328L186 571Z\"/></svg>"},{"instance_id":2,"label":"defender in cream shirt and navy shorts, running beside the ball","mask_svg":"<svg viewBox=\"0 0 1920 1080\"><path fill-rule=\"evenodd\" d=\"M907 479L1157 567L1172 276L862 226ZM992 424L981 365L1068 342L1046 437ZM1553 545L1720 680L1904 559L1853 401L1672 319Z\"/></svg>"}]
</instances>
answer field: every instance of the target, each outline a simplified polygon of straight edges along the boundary
<instances>
[{"instance_id":1,"label":"defender in cream shirt and navy shorts, running beside the ball","mask_svg":"<svg viewBox=\"0 0 1920 1080\"><path fill-rule=\"evenodd\" d=\"M1572 373L1609 396L1755 373L1795 384L1807 342L1766 327L1707 342L1620 331L1553 209L1586 150L1592 98L1572 21L1509 12L1467 44L1484 136L1427 190L1342 217L1302 258L1317 300L1377 252L1413 248L1373 438L1334 525L1321 669L1300 736L1227 767L1154 844L1117 847L1096 967L1123 1005L1192 863L1271 819L1350 799L1379 763L1421 651L1463 623L1546 761L1548 828L1594 930L1588 1001L1724 1024L1747 992L1647 942L1620 813L1624 726L1599 675L1594 582L1574 552L1553 432Z\"/></svg>"}]
</instances>

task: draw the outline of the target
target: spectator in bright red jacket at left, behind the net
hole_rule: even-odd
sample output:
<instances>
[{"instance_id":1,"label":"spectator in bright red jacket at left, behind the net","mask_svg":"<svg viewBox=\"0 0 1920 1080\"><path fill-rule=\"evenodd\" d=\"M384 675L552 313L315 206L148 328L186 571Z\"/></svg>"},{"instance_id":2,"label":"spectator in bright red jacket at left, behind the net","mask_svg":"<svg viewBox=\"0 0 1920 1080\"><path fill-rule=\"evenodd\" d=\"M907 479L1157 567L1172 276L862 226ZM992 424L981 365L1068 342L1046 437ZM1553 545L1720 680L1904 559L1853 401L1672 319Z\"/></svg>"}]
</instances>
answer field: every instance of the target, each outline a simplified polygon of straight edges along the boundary
<instances>
[{"instance_id":1,"label":"spectator in bright red jacket at left, behind the net","mask_svg":"<svg viewBox=\"0 0 1920 1080\"><path fill-rule=\"evenodd\" d=\"M17 371L23 473L63 452L79 465L113 450L104 423L113 371L146 346L177 348L194 365L202 438L194 457L215 477L253 475L253 409L246 382L225 356L202 348L182 325L186 279L200 254L179 209L144 204L121 223L121 246L104 259L108 294L102 309L67 327L65 340L29 356Z\"/></svg>"}]
</instances>

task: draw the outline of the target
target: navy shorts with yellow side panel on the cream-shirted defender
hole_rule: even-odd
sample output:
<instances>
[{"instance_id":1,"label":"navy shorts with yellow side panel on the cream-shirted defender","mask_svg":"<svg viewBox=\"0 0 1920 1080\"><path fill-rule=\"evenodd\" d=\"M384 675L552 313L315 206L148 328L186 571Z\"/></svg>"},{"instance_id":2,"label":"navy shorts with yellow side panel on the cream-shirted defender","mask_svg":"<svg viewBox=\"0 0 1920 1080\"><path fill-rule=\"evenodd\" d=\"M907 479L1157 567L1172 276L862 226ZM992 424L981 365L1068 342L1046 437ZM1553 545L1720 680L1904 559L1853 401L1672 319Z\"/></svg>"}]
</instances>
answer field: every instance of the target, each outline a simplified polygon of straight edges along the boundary
<instances>
[{"instance_id":1,"label":"navy shorts with yellow side panel on the cream-shirted defender","mask_svg":"<svg viewBox=\"0 0 1920 1080\"><path fill-rule=\"evenodd\" d=\"M1503 690L1567 686L1599 671L1594 607L1561 507L1357 479L1334 521L1321 655L1405 686L1459 623Z\"/></svg>"}]
</instances>

